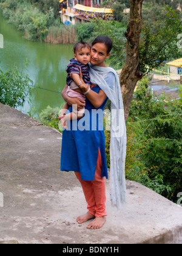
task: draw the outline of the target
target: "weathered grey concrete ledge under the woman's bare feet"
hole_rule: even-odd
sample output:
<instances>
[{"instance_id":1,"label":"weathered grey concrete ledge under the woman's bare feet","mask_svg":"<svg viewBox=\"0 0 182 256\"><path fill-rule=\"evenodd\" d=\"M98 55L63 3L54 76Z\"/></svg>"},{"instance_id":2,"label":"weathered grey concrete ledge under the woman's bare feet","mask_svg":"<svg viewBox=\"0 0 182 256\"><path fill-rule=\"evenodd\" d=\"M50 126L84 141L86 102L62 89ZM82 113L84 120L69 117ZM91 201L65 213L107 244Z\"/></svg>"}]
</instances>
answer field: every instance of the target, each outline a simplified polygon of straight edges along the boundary
<instances>
[{"instance_id":1,"label":"weathered grey concrete ledge under the woman's bare feet","mask_svg":"<svg viewBox=\"0 0 182 256\"><path fill-rule=\"evenodd\" d=\"M182 243L182 207L127 180L127 204L110 205L107 221L86 229L76 217L87 211L75 175L60 172L61 134L0 104L0 243Z\"/></svg>"}]
</instances>

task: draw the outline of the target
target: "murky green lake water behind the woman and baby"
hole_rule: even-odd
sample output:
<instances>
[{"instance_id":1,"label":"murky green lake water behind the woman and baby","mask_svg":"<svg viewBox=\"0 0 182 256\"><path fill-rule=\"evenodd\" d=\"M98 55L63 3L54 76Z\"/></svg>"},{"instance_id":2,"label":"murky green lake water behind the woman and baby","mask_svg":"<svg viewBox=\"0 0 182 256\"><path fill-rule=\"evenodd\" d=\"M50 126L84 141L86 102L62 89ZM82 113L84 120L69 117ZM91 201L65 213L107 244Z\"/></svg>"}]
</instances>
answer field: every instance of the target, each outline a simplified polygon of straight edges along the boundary
<instances>
[{"instance_id":1,"label":"murky green lake water behind the woman and baby","mask_svg":"<svg viewBox=\"0 0 182 256\"><path fill-rule=\"evenodd\" d=\"M21 71L26 60L25 73L38 87L25 102L18 107L23 113L40 113L47 105L60 107L64 100L61 91L66 85L66 67L73 57L73 45L32 42L23 38L21 32L7 24L0 13L0 34L4 37L4 48L0 48L0 68L5 71L17 66ZM56 91L56 92L53 92Z\"/></svg>"}]
</instances>

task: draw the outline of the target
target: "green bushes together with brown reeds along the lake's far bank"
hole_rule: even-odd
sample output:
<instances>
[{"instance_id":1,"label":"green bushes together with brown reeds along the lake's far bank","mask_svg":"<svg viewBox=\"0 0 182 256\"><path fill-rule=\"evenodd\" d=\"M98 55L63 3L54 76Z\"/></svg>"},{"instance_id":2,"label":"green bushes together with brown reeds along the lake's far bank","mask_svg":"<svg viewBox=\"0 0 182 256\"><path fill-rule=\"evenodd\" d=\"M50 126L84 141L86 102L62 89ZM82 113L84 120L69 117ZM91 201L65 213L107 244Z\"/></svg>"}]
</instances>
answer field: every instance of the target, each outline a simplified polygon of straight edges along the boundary
<instances>
[{"instance_id":1,"label":"green bushes together with brown reeds along the lake's far bank","mask_svg":"<svg viewBox=\"0 0 182 256\"><path fill-rule=\"evenodd\" d=\"M76 41L75 27L66 30L60 24L57 0L5 0L0 2L0 9L8 23L22 30L30 41L63 44Z\"/></svg>"}]
</instances>

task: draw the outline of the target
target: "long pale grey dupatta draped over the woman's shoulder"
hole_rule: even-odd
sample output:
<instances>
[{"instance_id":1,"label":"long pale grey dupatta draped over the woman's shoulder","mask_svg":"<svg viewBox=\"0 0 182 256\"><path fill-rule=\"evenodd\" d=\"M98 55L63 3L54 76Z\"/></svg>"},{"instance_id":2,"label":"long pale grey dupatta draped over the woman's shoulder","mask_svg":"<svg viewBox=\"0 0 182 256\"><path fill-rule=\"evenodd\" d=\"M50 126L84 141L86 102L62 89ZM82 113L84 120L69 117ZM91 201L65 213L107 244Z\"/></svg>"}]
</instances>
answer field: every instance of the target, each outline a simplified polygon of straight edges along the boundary
<instances>
[{"instance_id":1,"label":"long pale grey dupatta draped over the woman's shoulder","mask_svg":"<svg viewBox=\"0 0 182 256\"><path fill-rule=\"evenodd\" d=\"M104 77L109 72L115 75L115 82L111 81L107 84ZM120 210L122 204L126 202L126 124L120 80L114 69L92 64L90 64L90 80L92 84L97 84L111 101L110 199L112 204Z\"/></svg>"}]
</instances>

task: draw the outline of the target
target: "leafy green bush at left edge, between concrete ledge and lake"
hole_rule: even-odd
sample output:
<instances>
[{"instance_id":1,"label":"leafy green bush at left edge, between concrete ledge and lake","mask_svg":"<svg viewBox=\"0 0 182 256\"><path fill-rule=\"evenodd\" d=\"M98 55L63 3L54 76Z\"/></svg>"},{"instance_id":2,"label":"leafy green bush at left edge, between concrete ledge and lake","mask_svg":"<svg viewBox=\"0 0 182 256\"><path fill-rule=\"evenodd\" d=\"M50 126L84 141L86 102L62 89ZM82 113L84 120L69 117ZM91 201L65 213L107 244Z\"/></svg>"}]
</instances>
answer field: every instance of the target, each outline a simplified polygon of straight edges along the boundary
<instances>
[{"instance_id":1,"label":"leafy green bush at left edge, between concrete ledge and lake","mask_svg":"<svg viewBox=\"0 0 182 256\"><path fill-rule=\"evenodd\" d=\"M0 102L14 108L24 105L32 85L29 76L16 67L5 72L0 69Z\"/></svg>"}]
</instances>

